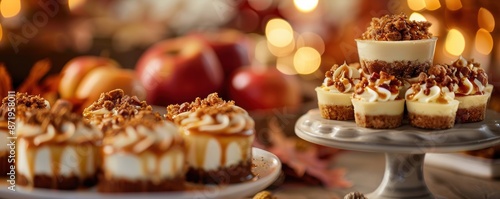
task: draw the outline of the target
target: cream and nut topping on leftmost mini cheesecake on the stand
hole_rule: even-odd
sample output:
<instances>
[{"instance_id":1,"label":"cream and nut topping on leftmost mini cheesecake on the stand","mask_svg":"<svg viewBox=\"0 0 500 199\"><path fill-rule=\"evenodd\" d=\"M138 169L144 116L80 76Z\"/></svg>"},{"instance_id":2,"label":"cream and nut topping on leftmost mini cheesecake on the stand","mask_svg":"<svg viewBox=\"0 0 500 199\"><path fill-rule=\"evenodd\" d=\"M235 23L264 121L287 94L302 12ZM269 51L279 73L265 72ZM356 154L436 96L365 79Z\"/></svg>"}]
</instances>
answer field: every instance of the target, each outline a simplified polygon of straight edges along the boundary
<instances>
[{"instance_id":1,"label":"cream and nut topping on leftmost mini cheesecake on the stand","mask_svg":"<svg viewBox=\"0 0 500 199\"><path fill-rule=\"evenodd\" d=\"M325 79L321 88L334 93L349 93L354 91L354 85L360 80L359 70L348 66L345 62L342 65L333 65L325 73Z\"/></svg>"}]
</instances>

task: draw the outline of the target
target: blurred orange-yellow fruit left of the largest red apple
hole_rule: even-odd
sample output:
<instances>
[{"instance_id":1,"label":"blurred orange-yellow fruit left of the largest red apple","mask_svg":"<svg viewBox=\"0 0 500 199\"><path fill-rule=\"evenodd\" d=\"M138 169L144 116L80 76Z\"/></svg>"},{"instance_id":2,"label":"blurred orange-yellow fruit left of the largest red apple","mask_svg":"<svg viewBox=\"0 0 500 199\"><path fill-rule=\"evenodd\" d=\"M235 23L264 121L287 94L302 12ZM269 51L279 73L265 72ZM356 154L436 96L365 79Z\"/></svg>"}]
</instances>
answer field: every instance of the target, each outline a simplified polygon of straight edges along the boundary
<instances>
[{"instance_id":1,"label":"blurred orange-yellow fruit left of the largest red apple","mask_svg":"<svg viewBox=\"0 0 500 199\"><path fill-rule=\"evenodd\" d=\"M80 56L70 60L62 69L59 82L61 98L74 103L74 111L81 112L99 99L103 92L121 88L127 95L146 98L146 91L133 70L105 57Z\"/></svg>"}]
</instances>

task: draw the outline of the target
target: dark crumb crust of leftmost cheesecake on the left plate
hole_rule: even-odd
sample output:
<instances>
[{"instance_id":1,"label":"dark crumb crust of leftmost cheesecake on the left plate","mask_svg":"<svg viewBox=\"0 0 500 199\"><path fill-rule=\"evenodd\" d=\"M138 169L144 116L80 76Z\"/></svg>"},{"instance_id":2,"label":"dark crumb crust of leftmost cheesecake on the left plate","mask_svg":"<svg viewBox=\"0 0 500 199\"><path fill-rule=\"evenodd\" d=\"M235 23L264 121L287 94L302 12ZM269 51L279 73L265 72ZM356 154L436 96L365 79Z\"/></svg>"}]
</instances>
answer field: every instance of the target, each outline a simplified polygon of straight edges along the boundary
<instances>
[{"instance_id":1,"label":"dark crumb crust of leftmost cheesecake on the left plate","mask_svg":"<svg viewBox=\"0 0 500 199\"><path fill-rule=\"evenodd\" d=\"M17 175L17 183L21 186L28 186L29 181L23 174ZM91 187L97 183L97 177L81 179L77 176L48 176L35 175L33 179L33 187L46 189L74 190L79 187Z\"/></svg>"}]
</instances>

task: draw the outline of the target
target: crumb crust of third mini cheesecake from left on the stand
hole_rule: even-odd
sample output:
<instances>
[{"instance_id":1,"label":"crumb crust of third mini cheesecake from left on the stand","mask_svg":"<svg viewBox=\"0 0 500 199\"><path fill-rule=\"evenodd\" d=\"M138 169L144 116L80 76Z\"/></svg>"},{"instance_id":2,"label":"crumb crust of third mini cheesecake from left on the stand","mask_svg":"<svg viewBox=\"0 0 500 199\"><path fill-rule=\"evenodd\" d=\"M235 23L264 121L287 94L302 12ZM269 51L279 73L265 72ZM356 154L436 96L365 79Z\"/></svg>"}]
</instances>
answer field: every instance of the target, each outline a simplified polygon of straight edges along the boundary
<instances>
[{"instance_id":1,"label":"crumb crust of third mini cheesecake from left on the stand","mask_svg":"<svg viewBox=\"0 0 500 199\"><path fill-rule=\"evenodd\" d=\"M449 129L455 124L455 116L428 116L409 113L410 125L424 129Z\"/></svg>"}]
</instances>

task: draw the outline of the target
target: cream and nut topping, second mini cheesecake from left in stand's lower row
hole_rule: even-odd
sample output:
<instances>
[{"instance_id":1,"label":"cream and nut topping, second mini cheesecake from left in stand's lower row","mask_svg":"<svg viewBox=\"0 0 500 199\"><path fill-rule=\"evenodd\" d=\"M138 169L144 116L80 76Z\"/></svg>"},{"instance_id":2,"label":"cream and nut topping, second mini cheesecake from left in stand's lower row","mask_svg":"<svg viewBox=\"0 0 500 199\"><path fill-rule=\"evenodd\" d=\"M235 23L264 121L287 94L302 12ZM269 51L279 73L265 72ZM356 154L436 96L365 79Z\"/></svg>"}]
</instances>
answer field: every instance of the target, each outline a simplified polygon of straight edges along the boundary
<instances>
[{"instance_id":1,"label":"cream and nut topping, second mini cheesecake from left in stand's lower row","mask_svg":"<svg viewBox=\"0 0 500 199\"><path fill-rule=\"evenodd\" d=\"M394 101L398 98L402 86L403 83L396 77L380 71L372 73L369 78L363 77L356 84L353 98L365 102Z\"/></svg>"}]
</instances>

